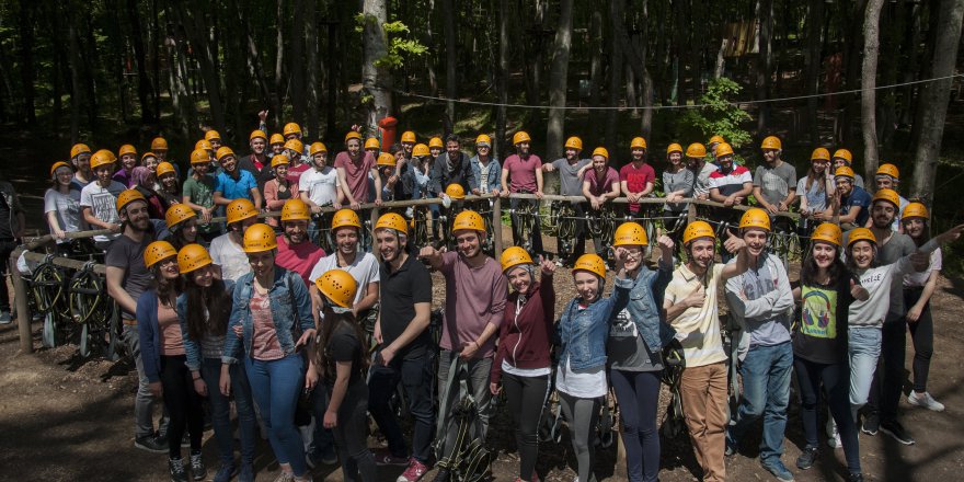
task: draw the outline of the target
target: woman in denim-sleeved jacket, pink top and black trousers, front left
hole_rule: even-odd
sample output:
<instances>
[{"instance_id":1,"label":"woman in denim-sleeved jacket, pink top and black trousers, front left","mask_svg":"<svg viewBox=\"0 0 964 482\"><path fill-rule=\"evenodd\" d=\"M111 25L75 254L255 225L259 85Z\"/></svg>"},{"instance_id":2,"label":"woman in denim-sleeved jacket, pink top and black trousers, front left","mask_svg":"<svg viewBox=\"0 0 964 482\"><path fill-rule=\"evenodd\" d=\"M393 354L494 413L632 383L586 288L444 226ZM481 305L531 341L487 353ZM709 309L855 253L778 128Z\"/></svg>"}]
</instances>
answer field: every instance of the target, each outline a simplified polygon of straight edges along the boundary
<instances>
[{"instance_id":1,"label":"woman in denim-sleeved jacket, pink top and black trousers, front left","mask_svg":"<svg viewBox=\"0 0 964 482\"><path fill-rule=\"evenodd\" d=\"M154 241L144 251L144 264L153 274L153 286L137 299L137 326L144 375L154 397L163 397L171 416L168 426L168 469L173 482L186 482L181 459L184 429L191 437L191 473L194 480L207 474L200 456L204 412L192 387L184 353L181 323L174 306L184 283L177 269L177 251L167 241Z\"/></svg>"}]
</instances>

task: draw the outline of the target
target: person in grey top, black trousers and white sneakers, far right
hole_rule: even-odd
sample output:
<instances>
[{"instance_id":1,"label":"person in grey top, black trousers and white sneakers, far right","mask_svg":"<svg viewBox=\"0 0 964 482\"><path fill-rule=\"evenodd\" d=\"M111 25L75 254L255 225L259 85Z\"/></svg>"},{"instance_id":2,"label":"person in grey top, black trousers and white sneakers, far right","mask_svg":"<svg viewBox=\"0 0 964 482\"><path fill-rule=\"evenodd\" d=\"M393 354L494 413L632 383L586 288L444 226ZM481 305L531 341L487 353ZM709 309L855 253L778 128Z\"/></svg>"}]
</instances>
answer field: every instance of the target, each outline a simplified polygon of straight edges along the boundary
<instances>
[{"instance_id":1,"label":"person in grey top, black trousers and white sneakers, far right","mask_svg":"<svg viewBox=\"0 0 964 482\"><path fill-rule=\"evenodd\" d=\"M917 245L909 236L892 229L899 205L900 196L897 192L886 188L877 191L871 203L870 229L877 241L876 263L881 266L896 263L917 251ZM867 435L876 435L880 428L900 444L914 445L914 438L897 422L897 404L904 387L904 356L907 351L907 329L904 322L907 310L904 306L903 283L900 276L894 276L891 282L891 307L881 330L881 368L874 372L860 431Z\"/></svg>"}]
</instances>

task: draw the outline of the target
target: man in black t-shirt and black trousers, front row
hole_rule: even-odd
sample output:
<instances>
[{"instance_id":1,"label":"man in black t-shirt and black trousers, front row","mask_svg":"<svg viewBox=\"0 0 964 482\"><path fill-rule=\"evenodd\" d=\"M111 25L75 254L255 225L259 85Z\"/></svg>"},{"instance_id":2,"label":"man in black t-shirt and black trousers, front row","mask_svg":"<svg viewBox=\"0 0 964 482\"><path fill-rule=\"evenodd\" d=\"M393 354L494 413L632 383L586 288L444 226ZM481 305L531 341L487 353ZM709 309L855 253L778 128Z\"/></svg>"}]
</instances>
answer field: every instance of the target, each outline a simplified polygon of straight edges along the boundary
<instances>
[{"instance_id":1,"label":"man in black t-shirt and black trousers, front row","mask_svg":"<svg viewBox=\"0 0 964 482\"><path fill-rule=\"evenodd\" d=\"M388 440L378 451L379 464L405 464L399 477L415 482L428 470L429 446L435 422L432 404L432 340L428 322L432 310L432 277L415 256L408 253L408 223L401 215L382 215L375 225L375 239L381 253L381 303L375 323L379 352L368 380L368 411ZM388 315L382 315L388 314ZM412 456L394 413L388 404L401 381L409 412L415 418Z\"/></svg>"}]
</instances>

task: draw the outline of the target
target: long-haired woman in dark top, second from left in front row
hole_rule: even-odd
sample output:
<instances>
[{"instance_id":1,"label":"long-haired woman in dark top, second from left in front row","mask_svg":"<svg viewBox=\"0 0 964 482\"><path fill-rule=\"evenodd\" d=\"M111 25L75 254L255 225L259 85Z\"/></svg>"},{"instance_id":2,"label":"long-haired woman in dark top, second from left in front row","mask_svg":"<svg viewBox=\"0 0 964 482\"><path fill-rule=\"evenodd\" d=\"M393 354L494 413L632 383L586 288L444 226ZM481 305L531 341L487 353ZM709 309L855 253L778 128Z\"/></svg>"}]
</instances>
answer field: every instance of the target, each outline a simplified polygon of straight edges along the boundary
<instances>
[{"instance_id":1,"label":"long-haired woman in dark top, second from left in front row","mask_svg":"<svg viewBox=\"0 0 964 482\"><path fill-rule=\"evenodd\" d=\"M239 481L253 482L255 417L244 366L233 364L230 368L241 435L240 470L234 463L230 400L218 389L234 283L215 277L216 269L210 254L200 244L181 248L177 252L177 267L184 277L184 292L177 297L177 318L181 320L181 333L184 336L186 365L194 380L194 390L210 401L215 440L221 458L221 467L214 480L227 482L237 472ZM231 333L231 336L236 335Z\"/></svg>"}]
</instances>

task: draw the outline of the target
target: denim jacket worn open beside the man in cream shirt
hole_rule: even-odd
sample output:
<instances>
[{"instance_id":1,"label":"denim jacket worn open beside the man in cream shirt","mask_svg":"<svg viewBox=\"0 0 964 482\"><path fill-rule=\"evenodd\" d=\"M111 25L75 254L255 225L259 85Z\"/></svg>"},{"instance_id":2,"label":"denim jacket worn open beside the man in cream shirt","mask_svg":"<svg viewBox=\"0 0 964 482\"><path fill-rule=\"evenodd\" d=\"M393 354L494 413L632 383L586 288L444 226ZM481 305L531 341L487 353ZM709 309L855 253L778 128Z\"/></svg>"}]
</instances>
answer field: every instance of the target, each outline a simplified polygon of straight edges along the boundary
<instances>
[{"instance_id":1,"label":"denim jacket worn open beside the man in cream shirt","mask_svg":"<svg viewBox=\"0 0 964 482\"><path fill-rule=\"evenodd\" d=\"M636 331L643 335L643 341L651 352L663 349L663 346L676 335L676 330L665 322L662 309L663 295L670 279L673 279L673 264L664 265L663 260L659 260L657 271L652 271L645 265L640 266L636 278L631 280L633 285L626 308L630 320L635 323ZM616 319L617 314L619 311L613 311L612 318Z\"/></svg>"}]
</instances>

